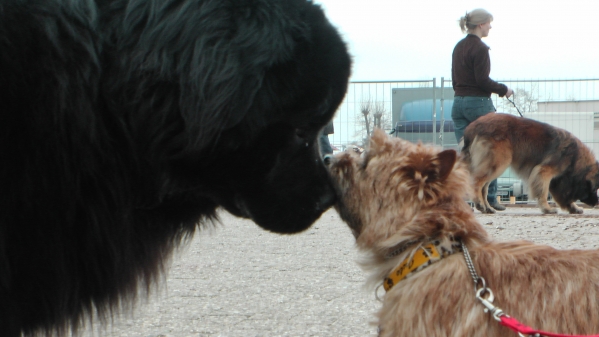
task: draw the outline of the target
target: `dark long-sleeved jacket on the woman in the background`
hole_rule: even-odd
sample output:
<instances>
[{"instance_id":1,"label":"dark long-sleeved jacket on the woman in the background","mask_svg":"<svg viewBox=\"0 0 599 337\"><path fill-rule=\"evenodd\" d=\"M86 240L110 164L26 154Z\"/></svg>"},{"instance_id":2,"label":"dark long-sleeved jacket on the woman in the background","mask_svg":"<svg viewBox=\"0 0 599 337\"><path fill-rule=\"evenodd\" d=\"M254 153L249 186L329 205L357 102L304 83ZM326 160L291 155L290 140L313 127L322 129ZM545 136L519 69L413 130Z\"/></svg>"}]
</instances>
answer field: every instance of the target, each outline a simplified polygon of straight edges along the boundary
<instances>
[{"instance_id":1,"label":"dark long-sleeved jacket on the woman in the background","mask_svg":"<svg viewBox=\"0 0 599 337\"><path fill-rule=\"evenodd\" d=\"M489 78L490 73L489 46L480 37L468 34L453 49L451 80L455 96L505 96L507 86Z\"/></svg>"}]
</instances>

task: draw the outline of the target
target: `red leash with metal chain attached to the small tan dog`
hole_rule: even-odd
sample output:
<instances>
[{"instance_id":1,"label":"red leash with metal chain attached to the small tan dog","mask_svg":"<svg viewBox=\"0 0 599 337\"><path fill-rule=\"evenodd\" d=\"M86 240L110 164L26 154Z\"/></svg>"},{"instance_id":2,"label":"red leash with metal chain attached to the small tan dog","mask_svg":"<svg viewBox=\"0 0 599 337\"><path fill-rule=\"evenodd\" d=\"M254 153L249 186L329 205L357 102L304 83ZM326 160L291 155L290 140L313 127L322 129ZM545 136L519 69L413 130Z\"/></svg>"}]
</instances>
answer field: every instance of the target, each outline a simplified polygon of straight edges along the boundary
<instances>
[{"instance_id":1,"label":"red leash with metal chain attached to the small tan dog","mask_svg":"<svg viewBox=\"0 0 599 337\"><path fill-rule=\"evenodd\" d=\"M505 314L503 310L501 310L501 308L493 305L493 300L495 299L493 296L493 291L491 291L491 289L487 287L485 279L479 276L476 272L476 269L474 268L474 263L472 263L472 258L470 257L470 252L468 251L468 248L466 247L464 242L462 242L461 244L462 252L464 253L464 259L466 260L466 265L468 266L470 275L474 280L474 290L476 290L476 299L479 300L482 303L482 305L485 306L485 309L483 309L483 311L485 313L491 313L493 318L496 321L498 321L499 324L518 333L518 336L520 337L599 337L599 335L564 335L536 330L520 323L517 319ZM479 284L481 284L480 288L478 288ZM485 294L487 294L486 297Z\"/></svg>"}]
</instances>

